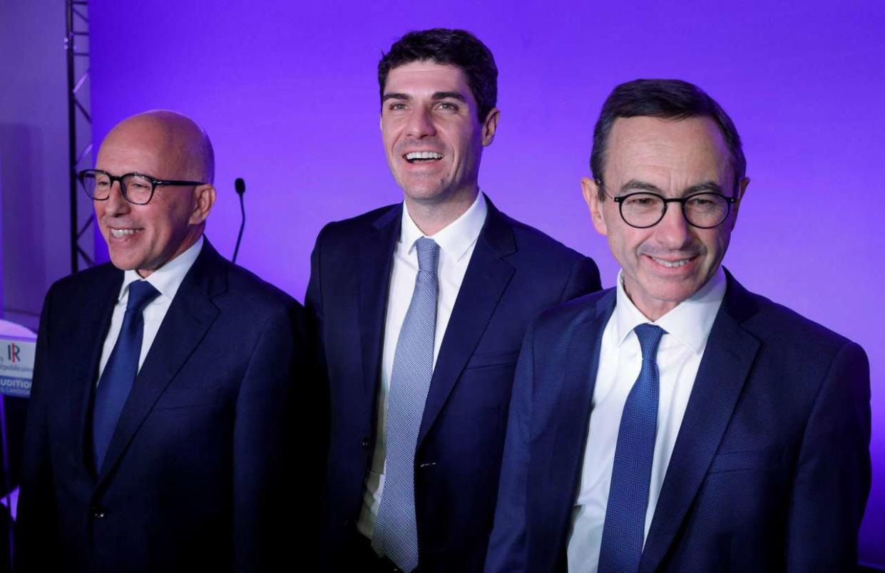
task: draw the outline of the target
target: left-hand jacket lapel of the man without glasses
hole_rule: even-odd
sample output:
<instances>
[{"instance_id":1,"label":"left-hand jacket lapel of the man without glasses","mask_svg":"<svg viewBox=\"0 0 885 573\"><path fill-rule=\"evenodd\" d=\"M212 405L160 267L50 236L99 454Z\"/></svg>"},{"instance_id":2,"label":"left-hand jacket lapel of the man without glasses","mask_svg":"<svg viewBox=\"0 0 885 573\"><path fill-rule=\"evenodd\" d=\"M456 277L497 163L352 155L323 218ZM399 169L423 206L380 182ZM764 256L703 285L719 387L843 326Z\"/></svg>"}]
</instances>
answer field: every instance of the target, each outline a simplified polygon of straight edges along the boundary
<instances>
[{"instance_id":1,"label":"left-hand jacket lapel of the man without glasses","mask_svg":"<svg viewBox=\"0 0 885 573\"><path fill-rule=\"evenodd\" d=\"M378 392L390 271L402 217L402 204L385 212L373 223L373 231L359 247L359 340L363 353L363 397L369 412L373 411Z\"/></svg>"}]
</instances>

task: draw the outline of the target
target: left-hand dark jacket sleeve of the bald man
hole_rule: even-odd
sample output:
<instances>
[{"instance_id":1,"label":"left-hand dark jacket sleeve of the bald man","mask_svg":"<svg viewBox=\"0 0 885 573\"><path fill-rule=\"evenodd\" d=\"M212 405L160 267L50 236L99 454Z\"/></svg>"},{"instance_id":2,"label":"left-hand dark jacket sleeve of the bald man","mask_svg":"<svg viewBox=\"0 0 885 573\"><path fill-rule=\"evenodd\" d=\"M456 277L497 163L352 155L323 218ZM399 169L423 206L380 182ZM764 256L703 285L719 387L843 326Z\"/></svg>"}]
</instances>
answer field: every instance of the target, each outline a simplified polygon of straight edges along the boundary
<instances>
[{"instance_id":1,"label":"left-hand dark jacket sleeve of the bald man","mask_svg":"<svg viewBox=\"0 0 885 573\"><path fill-rule=\"evenodd\" d=\"M40 330L31 383L31 397L27 405L25 447L21 468L18 520L15 529L15 570L62 570L54 562L61 551L58 547L58 512L50 460L49 424L47 423L46 388L50 363L50 293L46 295L40 314Z\"/></svg>"}]
</instances>

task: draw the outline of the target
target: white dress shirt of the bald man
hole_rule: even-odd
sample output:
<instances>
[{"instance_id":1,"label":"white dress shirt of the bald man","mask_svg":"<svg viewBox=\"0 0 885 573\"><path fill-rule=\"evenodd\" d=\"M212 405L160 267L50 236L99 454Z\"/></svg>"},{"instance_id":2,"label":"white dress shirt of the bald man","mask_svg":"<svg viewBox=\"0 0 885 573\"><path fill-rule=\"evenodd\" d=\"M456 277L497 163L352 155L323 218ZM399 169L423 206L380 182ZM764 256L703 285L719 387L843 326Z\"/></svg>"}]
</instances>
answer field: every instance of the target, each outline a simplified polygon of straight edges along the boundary
<instances>
[{"instance_id":1,"label":"white dress shirt of the bald man","mask_svg":"<svg viewBox=\"0 0 885 573\"><path fill-rule=\"evenodd\" d=\"M196 243L191 245L188 250L181 253L181 255L176 256L173 260L164 264L156 271L151 272L150 276L147 279L144 279L149 282L152 287L156 288L160 294L142 310L142 317L144 318L144 333L142 335L142 354L138 358L139 370L142 369L144 357L148 355L150 345L153 344L154 339L157 338L157 332L160 329L160 325L163 323L166 311L169 310L169 305L172 304L175 293L178 292L178 287L181 287L181 281L184 280L184 276L188 274L190 267L193 266L194 261L196 261L196 256L200 254L202 248L203 236L200 235L200 238L197 239ZM123 286L119 289L119 298L117 299L117 304L113 308L113 315L111 317L111 328L108 330L108 335L104 338L102 358L101 362L98 363L98 378L96 379L96 386L98 384L97 380L102 378L102 372L104 372L104 367L107 365L108 359L111 358L113 347L117 344L119 330L123 327L123 316L126 314L126 304L129 301L129 285L136 280L142 280L141 275L139 275L137 271L123 272Z\"/></svg>"}]
</instances>

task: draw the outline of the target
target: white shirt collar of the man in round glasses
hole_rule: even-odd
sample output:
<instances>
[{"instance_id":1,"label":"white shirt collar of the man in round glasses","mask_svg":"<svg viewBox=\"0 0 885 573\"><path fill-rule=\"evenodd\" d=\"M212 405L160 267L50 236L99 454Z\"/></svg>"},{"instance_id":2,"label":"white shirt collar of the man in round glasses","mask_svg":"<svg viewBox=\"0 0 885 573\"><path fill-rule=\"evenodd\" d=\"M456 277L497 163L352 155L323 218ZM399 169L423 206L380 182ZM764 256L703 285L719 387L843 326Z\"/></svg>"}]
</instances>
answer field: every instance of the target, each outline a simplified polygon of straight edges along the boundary
<instances>
[{"instance_id":1,"label":"white shirt collar of the man in round glasses","mask_svg":"<svg viewBox=\"0 0 885 573\"><path fill-rule=\"evenodd\" d=\"M618 272L618 299L614 308L614 335L618 346L627 340L637 325L650 323L627 296L623 274L623 270ZM704 287L651 324L660 326L696 354L703 353L725 297L726 285L725 271L720 266Z\"/></svg>"}]
</instances>

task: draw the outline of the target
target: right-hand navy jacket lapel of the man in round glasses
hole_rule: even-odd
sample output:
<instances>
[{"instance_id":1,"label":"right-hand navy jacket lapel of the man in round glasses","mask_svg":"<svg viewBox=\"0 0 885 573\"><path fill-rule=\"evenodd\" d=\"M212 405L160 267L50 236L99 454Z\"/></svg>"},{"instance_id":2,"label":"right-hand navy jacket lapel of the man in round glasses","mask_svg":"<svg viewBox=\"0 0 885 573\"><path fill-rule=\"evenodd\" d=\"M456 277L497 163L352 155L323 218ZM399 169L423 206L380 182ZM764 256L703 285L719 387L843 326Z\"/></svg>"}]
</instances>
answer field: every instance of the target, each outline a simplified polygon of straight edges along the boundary
<instances>
[{"instance_id":1,"label":"right-hand navy jacket lapel of the man in round glasses","mask_svg":"<svg viewBox=\"0 0 885 573\"><path fill-rule=\"evenodd\" d=\"M740 323L754 311L750 295L727 273L725 300L713 323L695 385L661 487L641 571L658 569L689 512L719 448L759 341Z\"/></svg>"}]
</instances>

